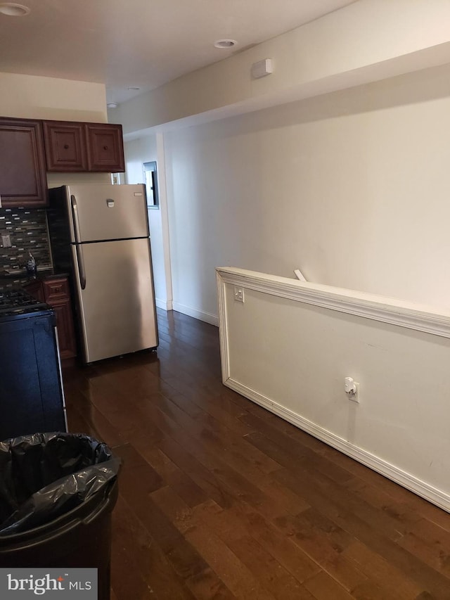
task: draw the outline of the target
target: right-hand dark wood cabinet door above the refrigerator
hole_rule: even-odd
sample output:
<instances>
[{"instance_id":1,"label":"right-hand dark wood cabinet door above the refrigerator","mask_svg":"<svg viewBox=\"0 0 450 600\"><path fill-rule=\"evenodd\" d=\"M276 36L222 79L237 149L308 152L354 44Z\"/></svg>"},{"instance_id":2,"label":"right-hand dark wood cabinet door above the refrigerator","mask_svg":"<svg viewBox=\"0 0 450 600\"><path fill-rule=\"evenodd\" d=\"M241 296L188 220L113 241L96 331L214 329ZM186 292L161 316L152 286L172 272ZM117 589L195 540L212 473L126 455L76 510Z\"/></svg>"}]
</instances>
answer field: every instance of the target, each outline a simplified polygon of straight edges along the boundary
<instances>
[{"instance_id":1,"label":"right-hand dark wood cabinet door above the refrigerator","mask_svg":"<svg viewBox=\"0 0 450 600\"><path fill-rule=\"evenodd\" d=\"M86 123L86 137L90 171L125 170L121 125Z\"/></svg>"}]
</instances>

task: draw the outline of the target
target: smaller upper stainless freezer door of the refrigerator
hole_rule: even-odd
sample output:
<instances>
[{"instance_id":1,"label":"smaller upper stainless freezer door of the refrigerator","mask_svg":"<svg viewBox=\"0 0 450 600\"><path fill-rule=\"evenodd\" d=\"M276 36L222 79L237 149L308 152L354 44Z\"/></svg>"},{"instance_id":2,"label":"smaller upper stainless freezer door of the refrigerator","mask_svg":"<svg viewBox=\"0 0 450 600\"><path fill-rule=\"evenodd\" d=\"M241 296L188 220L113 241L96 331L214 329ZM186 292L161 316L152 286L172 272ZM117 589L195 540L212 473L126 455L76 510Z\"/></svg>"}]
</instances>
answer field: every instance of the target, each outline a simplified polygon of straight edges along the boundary
<instances>
[{"instance_id":1,"label":"smaller upper stainless freezer door of the refrigerator","mask_svg":"<svg viewBox=\"0 0 450 600\"><path fill-rule=\"evenodd\" d=\"M143 184L79 184L67 186L65 191L72 222L72 241L82 243L148 237Z\"/></svg>"}]
</instances>

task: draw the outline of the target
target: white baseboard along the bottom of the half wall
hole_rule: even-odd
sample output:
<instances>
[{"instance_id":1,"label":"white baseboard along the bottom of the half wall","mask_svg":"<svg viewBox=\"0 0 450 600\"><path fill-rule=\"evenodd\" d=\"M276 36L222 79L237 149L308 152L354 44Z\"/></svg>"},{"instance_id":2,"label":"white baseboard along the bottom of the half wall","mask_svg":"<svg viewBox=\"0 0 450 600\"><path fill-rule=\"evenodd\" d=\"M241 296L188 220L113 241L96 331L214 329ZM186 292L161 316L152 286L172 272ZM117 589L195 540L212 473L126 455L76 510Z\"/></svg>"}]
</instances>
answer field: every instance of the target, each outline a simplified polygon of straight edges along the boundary
<instances>
[{"instance_id":1,"label":"white baseboard along the bottom of the half wall","mask_svg":"<svg viewBox=\"0 0 450 600\"><path fill-rule=\"evenodd\" d=\"M385 475L385 477L391 479L395 483L406 487L407 490L411 490L411 492L418 494L418 496L425 498L425 500L432 502L432 504L436 504L439 506L439 508L444 509L444 511L450 512L449 494L445 494L436 487L432 487L432 485L429 485L428 483L425 483L424 481L414 477L411 475L411 473L402 471L397 466L394 466L375 456L375 454L371 454L370 452L366 452L365 450L356 447L350 442L347 442L347 440L344 440L343 438L338 437L338 435L323 429L312 421L304 419L302 416L300 416L300 414L297 414L290 409L286 409L285 407L281 406L281 404L270 400L270 398L259 394L259 392L248 388L246 385L243 385L236 380L228 378L226 381L224 381L224 385L231 388L231 390L238 392L240 395L245 396L249 400L256 402L274 414L281 416L281 418L285 419L285 421L288 421L307 433L314 435L315 438L318 438L329 446L332 446L333 448L340 450L340 452L347 454L349 457L352 457L352 459L355 459L369 468L372 468L373 471L377 471L381 475Z\"/></svg>"}]
</instances>

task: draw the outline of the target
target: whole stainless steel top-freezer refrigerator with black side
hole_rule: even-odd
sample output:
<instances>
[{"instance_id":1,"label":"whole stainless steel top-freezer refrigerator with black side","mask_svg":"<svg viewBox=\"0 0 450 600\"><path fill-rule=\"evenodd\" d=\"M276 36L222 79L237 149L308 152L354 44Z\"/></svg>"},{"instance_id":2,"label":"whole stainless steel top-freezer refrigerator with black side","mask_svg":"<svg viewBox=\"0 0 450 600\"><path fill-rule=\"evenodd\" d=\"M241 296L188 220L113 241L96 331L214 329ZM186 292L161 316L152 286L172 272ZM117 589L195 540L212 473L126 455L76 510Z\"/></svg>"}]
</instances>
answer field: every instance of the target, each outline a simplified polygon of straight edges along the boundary
<instances>
[{"instance_id":1,"label":"whole stainless steel top-freezer refrigerator with black side","mask_svg":"<svg viewBox=\"0 0 450 600\"><path fill-rule=\"evenodd\" d=\"M142 184L49 190L56 272L70 272L85 363L158 345L146 191Z\"/></svg>"}]
</instances>

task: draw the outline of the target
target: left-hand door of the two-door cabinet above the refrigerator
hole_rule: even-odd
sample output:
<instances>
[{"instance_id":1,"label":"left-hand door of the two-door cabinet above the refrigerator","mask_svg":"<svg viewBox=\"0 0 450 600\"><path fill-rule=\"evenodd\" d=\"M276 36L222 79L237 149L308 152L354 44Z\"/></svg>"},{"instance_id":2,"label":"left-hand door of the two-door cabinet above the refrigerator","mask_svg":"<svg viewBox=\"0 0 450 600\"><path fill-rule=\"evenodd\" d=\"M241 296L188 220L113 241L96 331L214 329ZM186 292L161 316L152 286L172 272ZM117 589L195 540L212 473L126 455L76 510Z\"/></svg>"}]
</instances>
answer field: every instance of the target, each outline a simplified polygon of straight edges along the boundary
<instances>
[{"instance_id":1,"label":"left-hand door of the two-door cabinet above the refrigerator","mask_svg":"<svg viewBox=\"0 0 450 600\"><path fill-rule=\"evenodd\" d=\"M44 121L44 143L48 171L87 171L84 124Z\"/></svg>"}]
</instances>

